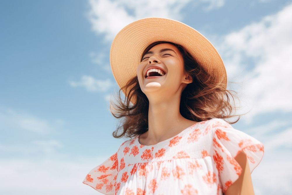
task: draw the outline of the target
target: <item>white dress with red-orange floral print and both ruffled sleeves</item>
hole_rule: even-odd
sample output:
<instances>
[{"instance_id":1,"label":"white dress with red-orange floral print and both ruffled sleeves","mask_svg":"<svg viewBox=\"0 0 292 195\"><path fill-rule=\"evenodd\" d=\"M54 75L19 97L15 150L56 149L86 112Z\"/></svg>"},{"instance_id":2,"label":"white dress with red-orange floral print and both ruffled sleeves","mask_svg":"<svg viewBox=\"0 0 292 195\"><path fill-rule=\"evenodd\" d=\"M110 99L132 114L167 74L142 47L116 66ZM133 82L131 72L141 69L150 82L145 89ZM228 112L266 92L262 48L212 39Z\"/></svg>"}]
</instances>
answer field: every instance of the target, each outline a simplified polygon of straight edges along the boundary
<instances>
[{"instance_id":1,"label":"white dress with red-orange floral print and both ruffled sleeves","mask_svg":"<svg viewBox=\"0 0 292 195\"><path fill-rule=\"evenodd\" d=\"M241 175L235 160L241 151L252 172L263 158L264 145L213 118L154 145L140 144L138 135L124 141L83 183L102 194L221 195Z\"/></svg>"}]
</instances>

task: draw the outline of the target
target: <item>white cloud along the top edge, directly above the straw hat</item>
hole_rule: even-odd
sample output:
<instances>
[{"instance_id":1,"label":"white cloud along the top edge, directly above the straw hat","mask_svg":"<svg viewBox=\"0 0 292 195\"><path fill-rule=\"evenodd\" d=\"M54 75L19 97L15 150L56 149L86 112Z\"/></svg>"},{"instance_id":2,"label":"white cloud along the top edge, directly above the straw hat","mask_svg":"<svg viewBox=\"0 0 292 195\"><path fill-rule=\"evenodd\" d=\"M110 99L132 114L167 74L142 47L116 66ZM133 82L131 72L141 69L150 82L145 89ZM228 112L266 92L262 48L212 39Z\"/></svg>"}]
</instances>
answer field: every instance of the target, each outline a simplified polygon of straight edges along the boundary
<instances>
[{"instance_id":1,"label":"white cloud along the top edge, directly above the straw hat","mask_svg":"<svg viewBox=\"0 0 292 195\"><path fill-rule=\"evenodd\" d=\"M105 34L105 41L111 41L115 35L129 23L147 17L163 17L182 20L181 10L190 0L89 0L91 10L88 19L92 29L98 35ZM208 4L210 11L224 5L224 0L201 0Z\"/></svg>"}]
</instances>

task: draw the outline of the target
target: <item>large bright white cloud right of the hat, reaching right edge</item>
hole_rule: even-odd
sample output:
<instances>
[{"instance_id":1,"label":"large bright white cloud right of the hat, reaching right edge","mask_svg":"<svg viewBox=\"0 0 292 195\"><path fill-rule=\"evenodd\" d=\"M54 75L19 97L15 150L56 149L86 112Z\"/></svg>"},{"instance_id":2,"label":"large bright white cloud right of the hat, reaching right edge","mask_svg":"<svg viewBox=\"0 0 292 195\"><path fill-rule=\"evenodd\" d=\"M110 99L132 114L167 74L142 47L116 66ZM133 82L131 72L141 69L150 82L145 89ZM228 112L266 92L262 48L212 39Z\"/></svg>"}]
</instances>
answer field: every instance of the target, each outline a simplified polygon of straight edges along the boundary
<instances>
[{"instance_id":1,"label":"large bright white cloud right of the hat, reaching right edge","mask_svg":"<svg viewBox=\"0 0 292 195\"><path fill-rule=\"evenodd\" d=\"M249 122L261 113L292 111L289 103L292 99L289 90L292 85L291 23L292 4L277 14L227 34L216 46L225 61L229 79L243 83L240 98L246 103L244 107L252 108L245 118ZM254 67L247 60L252 61Z\"/></svg>"}]
</instances>

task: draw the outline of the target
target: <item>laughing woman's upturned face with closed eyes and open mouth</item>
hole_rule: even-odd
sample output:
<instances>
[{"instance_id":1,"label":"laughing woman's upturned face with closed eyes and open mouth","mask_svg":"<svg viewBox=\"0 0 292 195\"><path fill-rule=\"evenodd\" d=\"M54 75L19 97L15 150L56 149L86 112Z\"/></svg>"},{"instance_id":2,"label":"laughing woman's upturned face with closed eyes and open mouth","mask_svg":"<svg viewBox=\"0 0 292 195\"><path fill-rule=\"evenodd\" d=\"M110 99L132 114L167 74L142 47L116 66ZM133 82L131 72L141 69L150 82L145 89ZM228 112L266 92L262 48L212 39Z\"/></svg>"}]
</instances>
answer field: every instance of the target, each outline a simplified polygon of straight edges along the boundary
<instances>
[{"instance_id":1,"label":"laughing woman's upturned face with closed eyes and open mouth","mask_svg":"<svg viewBox=\"0 0 292 195\"><path fill-rule=\"evenodd\" d=\"M160 69L160 71L149 73L148 70L151 68ZM165 95L181 94L187 84L192 82L192 78L184 74L183 68L183 56L176 46L169 43L153 46L142 56L142 61L137 67L142 92L148 99L152 94L155 94L155 98L159 98L159 95L163 98Z\"/></svg>"}]
</instances>

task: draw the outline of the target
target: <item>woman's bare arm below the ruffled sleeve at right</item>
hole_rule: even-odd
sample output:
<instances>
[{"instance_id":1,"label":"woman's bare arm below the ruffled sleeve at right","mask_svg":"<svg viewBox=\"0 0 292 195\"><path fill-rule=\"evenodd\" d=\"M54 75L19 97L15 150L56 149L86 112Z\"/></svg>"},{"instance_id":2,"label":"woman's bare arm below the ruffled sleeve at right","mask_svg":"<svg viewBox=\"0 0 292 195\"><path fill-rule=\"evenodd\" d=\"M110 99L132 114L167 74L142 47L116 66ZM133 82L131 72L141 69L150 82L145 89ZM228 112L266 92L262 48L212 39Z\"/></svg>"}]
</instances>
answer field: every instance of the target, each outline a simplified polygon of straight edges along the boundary
<instances>
[{"instance_id":1,"label":"woman's bare arm below the ruffled sleeve at right","mask_svg":"<svg viewBox=\"0 0 292 195\"><path fill-rule=\"evenodd\" d=\"M251 181L251 172L244 152L240 152L235 160L242 168L239 178L228 187L224 195L254 195L253 183Z\"/></svg>"}]
</instances>

